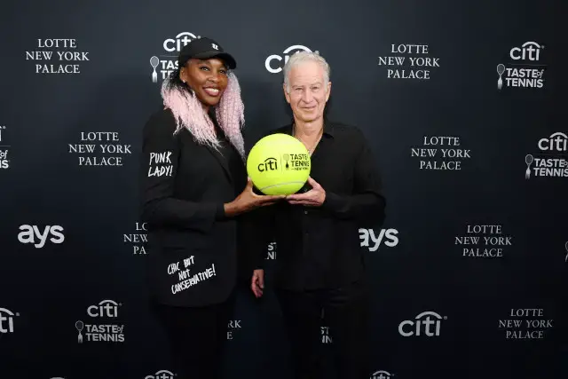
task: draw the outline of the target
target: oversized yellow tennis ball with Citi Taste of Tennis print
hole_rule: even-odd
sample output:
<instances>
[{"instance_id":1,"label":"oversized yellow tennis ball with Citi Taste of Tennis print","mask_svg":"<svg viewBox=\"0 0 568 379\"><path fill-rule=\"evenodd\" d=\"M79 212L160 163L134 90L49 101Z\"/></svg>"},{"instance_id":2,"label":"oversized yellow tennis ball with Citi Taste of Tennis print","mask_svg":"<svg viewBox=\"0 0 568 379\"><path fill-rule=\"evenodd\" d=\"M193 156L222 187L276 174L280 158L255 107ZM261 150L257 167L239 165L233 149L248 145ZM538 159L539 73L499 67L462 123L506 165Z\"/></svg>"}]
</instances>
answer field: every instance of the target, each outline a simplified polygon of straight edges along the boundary
<instances>
[{"instance_id":1,"label":"oversized yellow tennis ball with Citi Taste of Tennis print","mask_svg":"<svg viewBox=\"0 0 568 379\"><path fill-rule=\"evenodd\" d=\"M304 144L288 134L271 134L256 142L247 158L247 173L264 194L292 194L310 176L312 161Z\"/></svg>"}]
</instances>

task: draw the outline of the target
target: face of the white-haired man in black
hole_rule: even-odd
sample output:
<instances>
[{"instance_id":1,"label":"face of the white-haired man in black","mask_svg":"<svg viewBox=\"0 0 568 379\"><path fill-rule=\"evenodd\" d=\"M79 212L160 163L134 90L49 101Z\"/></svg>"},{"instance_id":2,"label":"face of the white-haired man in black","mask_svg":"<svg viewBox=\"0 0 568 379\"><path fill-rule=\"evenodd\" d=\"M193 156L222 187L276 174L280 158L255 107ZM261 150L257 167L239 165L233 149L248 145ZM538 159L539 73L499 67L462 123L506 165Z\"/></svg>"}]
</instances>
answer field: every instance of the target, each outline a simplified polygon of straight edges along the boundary
<instances>
[{"instance_id":1,"label":"face of the white-haired man in black","mask_svg":"<svg viewBox=\"0 0 568 379\"><path fill-rule=\"evenodd\" d=\"M302 122L314 122L323 117L331 83L325 83L324 69L317 62L303 62L288 74L289 92L284 84L284 96L294 117Z\"/></svg>"}]
</instances>

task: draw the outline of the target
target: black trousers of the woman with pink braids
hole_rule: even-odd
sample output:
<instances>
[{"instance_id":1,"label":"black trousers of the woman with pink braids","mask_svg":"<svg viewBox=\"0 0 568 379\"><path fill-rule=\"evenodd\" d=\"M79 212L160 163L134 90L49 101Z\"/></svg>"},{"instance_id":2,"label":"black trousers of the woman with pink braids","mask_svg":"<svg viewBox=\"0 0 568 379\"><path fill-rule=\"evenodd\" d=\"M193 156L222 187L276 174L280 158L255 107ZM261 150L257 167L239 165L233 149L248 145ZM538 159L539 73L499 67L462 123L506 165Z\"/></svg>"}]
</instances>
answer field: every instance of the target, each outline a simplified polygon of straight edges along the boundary
<instances>
[{"instance_id":1,"label":"black trousers of the woman with pink braids","mask_svg":"<svg viewBox=\"0 0 568 379\"><path fill-rule=\"evenodd\" d=\"M233 316L234 294L221 304L177 307L152 304L166 331L176 379L218 379Z\"/></svg>"}]
</instances>

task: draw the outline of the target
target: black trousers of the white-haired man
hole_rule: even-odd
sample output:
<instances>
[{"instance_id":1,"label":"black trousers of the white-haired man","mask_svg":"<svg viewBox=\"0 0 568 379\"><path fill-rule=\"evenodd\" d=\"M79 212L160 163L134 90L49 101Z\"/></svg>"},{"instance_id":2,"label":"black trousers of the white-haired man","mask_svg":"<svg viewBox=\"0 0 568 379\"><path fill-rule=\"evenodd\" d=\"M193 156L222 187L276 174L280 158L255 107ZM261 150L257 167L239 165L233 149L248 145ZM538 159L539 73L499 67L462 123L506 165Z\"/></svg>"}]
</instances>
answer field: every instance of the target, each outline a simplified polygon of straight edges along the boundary
<instances>
[{"instance_id":1,"label":"black trousers of the white-haired man","mask_svg":"<svg viewBox=\"0 0 568 379\"><path fill-rule=\"evenodd\" d=\"M323 379L322 326L329 328L333 341L337 377L368 379L369 302L365 281L342 288L302 292L277 288L275 292L288 329L295 379Z\"/></svg>"}]
</instances>

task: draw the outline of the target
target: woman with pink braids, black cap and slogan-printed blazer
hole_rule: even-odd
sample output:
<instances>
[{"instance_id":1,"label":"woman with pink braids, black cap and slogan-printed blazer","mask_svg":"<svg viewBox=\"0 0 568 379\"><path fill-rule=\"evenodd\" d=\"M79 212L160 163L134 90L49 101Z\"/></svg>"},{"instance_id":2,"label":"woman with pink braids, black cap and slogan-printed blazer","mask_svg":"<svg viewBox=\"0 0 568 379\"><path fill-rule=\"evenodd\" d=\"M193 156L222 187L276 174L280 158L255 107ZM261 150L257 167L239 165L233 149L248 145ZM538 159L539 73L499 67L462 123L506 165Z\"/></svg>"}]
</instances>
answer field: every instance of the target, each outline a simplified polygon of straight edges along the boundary
<instances>
[{"instance_id":1,"label":"woman with pink braids, black cap and slogan-printed blazer","mask_svg":"<svg viewBox=\"0 0 568 379\"><path fill-rule=\"evenodd\" d=\"M233 56L209 38L185 45L144 128L142 221L148 282L177 379L214 379L233 311L245 214L279 196L253 193ZM249 233L247 233L249 234Z\"/></svg>"}]
</instances>

